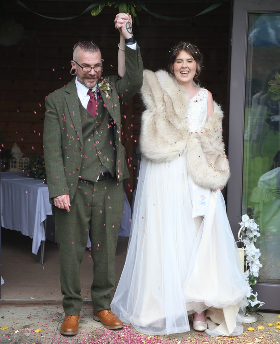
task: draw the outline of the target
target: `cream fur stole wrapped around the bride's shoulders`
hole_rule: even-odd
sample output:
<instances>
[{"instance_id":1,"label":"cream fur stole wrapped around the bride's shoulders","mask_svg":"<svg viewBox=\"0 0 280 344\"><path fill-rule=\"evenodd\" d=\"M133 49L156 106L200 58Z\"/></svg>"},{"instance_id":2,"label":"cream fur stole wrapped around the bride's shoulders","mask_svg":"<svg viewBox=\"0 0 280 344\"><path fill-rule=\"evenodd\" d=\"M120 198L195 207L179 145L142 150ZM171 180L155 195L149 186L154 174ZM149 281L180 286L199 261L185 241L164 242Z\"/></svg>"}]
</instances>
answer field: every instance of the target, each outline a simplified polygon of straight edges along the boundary
<instances>
[{"instance_id":1,"label":"cream fur stole wrapped around the bride's shoulders","mask_svg":"<svg viewBox=\"0 0 280 344\"><path fill-rule=\"evenodd\" d=\"M214 113L199 132L189 132L186 118L189 95L165 71L145 70L141 89L146 110L142 114L140 148L155 162L187 158L187 172L205 189L219 189L229 179L229 164L222 140L223 112L214 102Z\"/></svg>"}]
</instances>

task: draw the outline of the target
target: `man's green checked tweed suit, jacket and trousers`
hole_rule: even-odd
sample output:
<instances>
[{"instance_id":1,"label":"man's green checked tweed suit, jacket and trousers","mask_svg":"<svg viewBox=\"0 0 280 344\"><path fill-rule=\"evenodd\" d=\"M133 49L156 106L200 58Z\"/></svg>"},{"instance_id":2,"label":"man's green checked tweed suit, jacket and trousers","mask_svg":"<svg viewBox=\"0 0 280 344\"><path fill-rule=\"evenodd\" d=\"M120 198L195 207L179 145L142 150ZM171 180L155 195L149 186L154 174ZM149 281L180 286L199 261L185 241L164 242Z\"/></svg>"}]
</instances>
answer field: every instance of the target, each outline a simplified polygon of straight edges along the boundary
<instances>
[{"instance_id":1,"label":"man's green checked tweed suit, jacket and trousers","mask_svg":"<svg viewBox=\"0 0 280 344\"><path fill-rule=\"evenodd\" d=\"M104 91L98 93L96 123L102 120L103 126L97 129L94 121L92 124L92 153L96 156L94 161L98 161L92 168L100 171L102 165L106 166L106 161L115 160L112 179L94 183L81 181L84 142L81 104L75 79L45 98L43 141L50 202L53 205L53 197L69 194L71 203L69 213L52 206L60 249L63 308L67 315L79 314L82 307L79 274L89 226L94 262L94 280L91 286L93 308L97 312L110 309L109 293L115 284L115 250L124 204L121 181L129 177L124 147L121 144L120 105L131 98L143 82L139 47L132 50L125 46L125 58L124 77L107 77L112 88L108 90L108 94ZM104 123L109 123L110 119L115 125L114 157L110 156L112 149L106 150L106 146L102 147L100 144L102 138L108 135L109 126L107 128Z\"/></svg>"}]
</instances>

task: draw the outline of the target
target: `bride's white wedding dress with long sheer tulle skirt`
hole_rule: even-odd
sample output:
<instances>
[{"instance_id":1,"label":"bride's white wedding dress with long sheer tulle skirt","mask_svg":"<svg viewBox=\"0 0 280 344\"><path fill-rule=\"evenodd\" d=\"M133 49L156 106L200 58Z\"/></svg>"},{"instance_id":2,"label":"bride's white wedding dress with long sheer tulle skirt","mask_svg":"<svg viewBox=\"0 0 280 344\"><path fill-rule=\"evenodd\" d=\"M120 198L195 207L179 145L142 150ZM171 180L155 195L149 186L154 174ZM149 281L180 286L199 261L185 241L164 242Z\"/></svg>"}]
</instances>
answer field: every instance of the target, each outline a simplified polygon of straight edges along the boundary
<instances>
[{"instance_id":1,"label":"bride's white wedding dress with long sheer tulle skirt","mask_svg":"<svg viewBox=\"0 0 280 344\"><path fill-rule=\"evenodd\" d=\"M191 130L205 124L207 97L201 88L191 98ZM224 198L220 190L199 190L186 165L184 156L162 163L142 156L126 261L111 309L145 334L189 331L188 314L206 310L209 334L238 335L248 285Z\"/></svg>"}]
</instances>

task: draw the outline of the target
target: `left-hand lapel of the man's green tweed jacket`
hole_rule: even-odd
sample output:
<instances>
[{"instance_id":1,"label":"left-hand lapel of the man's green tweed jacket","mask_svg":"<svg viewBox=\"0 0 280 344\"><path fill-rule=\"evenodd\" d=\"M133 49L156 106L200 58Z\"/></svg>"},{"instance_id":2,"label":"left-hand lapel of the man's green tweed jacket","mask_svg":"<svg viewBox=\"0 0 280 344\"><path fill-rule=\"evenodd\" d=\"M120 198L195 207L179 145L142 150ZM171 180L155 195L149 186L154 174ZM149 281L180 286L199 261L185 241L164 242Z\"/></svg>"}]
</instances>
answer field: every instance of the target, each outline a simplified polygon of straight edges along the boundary
<instances>
[{"instance_id":1,"label":"left-hand lapel of the man's green tweed jacket","mask_svg":"<svg viewBox=\"0 0 280 344\"><path fill-rule=\"evenodd\" d=\"M77 94L75 86L75 78L66 86L66 104L69 111L69 116L72 120L73 127L76 131L77 137L83 143L83 132L81 127L81 114L80 114L80 99Z\"/></svg>"}]
</instances>

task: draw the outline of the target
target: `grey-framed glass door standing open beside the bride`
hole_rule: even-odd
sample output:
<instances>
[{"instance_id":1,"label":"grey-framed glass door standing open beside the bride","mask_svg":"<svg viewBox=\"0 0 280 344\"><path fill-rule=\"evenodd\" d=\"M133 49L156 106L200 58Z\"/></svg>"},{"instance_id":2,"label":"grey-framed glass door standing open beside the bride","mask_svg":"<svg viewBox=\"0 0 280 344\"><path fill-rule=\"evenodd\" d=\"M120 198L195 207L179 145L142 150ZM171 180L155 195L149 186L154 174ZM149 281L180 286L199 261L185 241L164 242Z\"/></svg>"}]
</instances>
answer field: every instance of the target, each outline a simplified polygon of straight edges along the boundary
<instances>
[{"instance_id":1,"label":"grey-framed glass door standing open beside the bride","mask_svg":"<svg viewBox=\"0 0 280 344\"><path fill-rule=\"evenodd\" d=\"M228 217L259 216L261 252L254 290L263 309L280 308L280 5L234 0Z\"/></svg>"}]
</instances>

